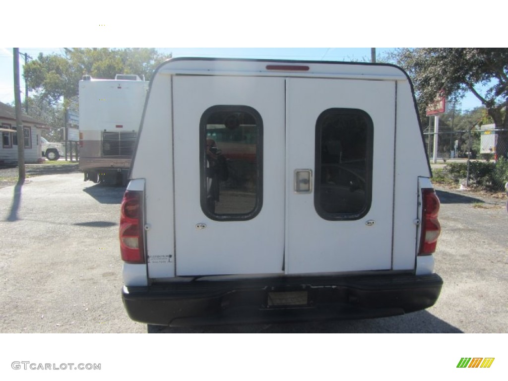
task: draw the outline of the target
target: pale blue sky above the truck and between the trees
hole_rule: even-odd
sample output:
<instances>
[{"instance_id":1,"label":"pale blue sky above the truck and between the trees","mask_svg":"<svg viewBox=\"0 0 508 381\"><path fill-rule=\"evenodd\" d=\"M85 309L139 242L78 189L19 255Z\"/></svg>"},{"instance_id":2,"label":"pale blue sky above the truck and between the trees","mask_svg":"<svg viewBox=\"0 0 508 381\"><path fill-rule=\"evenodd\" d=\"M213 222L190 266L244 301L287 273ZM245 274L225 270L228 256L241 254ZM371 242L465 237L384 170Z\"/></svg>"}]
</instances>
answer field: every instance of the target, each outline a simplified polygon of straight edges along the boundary
<instances>
[{"instance_id":1,"label":"pale blue sky above the truck and between the trees","mask_svg":"<svg viewBox=\"0 0 508 381\"><path fill-rule=\"evenodd\" d=\"M173 57L227 57L227 58L268 58L330 61L370 62L370 48L157 48L163 53L172 53ZM376 48L377 56L383 56L393 48ZM63 48L19 48L36 59L40 52L44 54L61 53ZM24 57L20 57L22 73ZM21 99L23 101L25 84L21 76ZM13 48L0 48L0 102L14 101ZM469 94L463 101L462 110L481 106L480 101Z\"/></svg>"}]
</instances>

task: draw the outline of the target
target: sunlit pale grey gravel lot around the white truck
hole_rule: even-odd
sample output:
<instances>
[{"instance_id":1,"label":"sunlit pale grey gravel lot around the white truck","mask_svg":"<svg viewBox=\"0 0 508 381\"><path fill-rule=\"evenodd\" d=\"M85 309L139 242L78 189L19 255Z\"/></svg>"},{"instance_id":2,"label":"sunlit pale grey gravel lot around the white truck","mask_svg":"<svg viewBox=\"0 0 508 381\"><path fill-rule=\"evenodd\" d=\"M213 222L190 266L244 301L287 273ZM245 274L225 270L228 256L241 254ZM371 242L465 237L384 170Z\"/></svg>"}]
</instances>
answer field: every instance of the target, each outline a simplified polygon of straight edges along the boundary
<instances>
[{"instance_id":1,"label":"sunlit pale grey gravel lot around the white truck","mask_svg":"<svg viewBox=\"0 0 508 381\"><path fill-rule=\"evenodd\" d=\"M0 170L0 177L15 178L12 171ZM56 173L42 175L48 171ZM123 189L83 182L76 165L28 167L27 174L22 186L14 181L0 188L0 332L146 332L129 319L120 298ZM444 285L433 307L384 319L169 332L508 332L506 199L456 189L437 193L436 272Z\"/></svg>"}]
</instances>

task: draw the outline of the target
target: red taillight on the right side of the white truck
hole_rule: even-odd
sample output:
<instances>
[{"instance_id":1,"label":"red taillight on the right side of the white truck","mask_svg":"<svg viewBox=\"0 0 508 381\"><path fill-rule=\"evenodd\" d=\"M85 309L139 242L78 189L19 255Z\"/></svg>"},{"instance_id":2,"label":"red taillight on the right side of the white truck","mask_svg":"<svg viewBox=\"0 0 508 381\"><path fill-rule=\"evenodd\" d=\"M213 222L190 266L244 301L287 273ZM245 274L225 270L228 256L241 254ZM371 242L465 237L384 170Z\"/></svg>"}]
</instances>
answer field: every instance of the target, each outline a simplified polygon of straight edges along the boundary
<instances>
[{"instance_id":1,"label":"red taillight on the right side of the white truck","mask_svg":"<svg viewBox=\"0 0 508 381\"><path fill-rule=\"evenodd\" d=\"M419 256L428 256L436 251L437 238L441 233L441 225L437 219L439 214L439 199L434 189L422 189L422 238L420 240Z\"/></svg>"}]
</instances>

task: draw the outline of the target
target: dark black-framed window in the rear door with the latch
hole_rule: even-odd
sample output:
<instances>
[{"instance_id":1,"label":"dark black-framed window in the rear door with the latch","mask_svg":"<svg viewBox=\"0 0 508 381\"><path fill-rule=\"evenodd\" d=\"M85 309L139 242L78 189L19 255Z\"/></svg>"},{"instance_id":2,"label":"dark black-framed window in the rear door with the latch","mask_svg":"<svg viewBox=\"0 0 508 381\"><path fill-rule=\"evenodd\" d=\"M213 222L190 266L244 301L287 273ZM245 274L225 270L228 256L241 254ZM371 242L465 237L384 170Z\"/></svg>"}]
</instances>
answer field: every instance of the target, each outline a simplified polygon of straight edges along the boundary
<instances>
[{"instance_id":1,"label":"dark black-framed window in the rear door with the latch","mask_svg":"<svg viewBox=\"0 0 508 381\"><path fill-rule=\"evenodd\" d=\"M316 122L317 213L329 220L359 219L370 209L373 124L358 109L328 109Z\"/></svg>"}]
</instances>

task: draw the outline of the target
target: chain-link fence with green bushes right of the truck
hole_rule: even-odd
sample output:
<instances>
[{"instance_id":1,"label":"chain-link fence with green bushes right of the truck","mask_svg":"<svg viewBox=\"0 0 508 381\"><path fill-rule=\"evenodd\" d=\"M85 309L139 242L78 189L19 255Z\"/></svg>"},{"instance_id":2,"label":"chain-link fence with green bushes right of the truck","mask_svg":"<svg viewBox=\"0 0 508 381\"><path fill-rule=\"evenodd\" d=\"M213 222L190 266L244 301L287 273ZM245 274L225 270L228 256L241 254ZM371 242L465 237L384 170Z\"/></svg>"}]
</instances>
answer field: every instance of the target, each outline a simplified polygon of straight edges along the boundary
<instances>
[{"instance_id":1,"label":"chain-link fence with green bushes right of the truck","mask_svg":"<svg viewBox=\"0 0 508 381\"><path fill-rule=\"evenodd\" d=\"M437 135L437 142L434 142ZM508 182L508 130L484 125L480 130L424 131L436 182L479 187L493 192ZM434 143L436 147L434 147ZM434 150L434 148L436 148Z\"/></svg>"}]
</instances>

